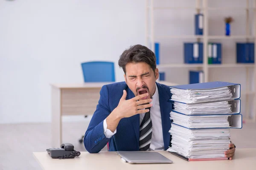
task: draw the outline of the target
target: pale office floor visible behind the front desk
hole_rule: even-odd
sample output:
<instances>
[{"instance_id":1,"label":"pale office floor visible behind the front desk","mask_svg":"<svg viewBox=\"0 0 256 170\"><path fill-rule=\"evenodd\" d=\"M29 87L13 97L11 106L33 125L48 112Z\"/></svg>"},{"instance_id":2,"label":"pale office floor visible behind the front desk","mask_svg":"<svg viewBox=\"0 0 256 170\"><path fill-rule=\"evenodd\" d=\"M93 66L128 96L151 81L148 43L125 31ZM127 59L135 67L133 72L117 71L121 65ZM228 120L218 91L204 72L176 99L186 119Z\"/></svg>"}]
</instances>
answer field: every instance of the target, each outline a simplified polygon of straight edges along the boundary
<instances>
[{"instance_id":1,"label":"pale office floor visible behind the front desk","mask_svg":"<svg viewBox=\"0 0 256 170\"><path fill-rule=\"evenodd\" d=\"M63 142L72 143L75 150L86 151L78 140L88 123L64 122ZM41 170L32 152L45 152L51 147L50 132L50 123L0 125L0 170ZM256 147L256 123L248 122L242 129L231 129L231 136L238 148Z\"/></svg>"}]
</instances>

